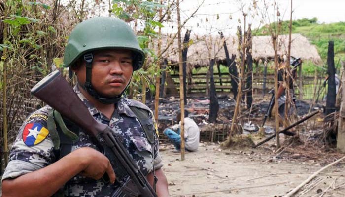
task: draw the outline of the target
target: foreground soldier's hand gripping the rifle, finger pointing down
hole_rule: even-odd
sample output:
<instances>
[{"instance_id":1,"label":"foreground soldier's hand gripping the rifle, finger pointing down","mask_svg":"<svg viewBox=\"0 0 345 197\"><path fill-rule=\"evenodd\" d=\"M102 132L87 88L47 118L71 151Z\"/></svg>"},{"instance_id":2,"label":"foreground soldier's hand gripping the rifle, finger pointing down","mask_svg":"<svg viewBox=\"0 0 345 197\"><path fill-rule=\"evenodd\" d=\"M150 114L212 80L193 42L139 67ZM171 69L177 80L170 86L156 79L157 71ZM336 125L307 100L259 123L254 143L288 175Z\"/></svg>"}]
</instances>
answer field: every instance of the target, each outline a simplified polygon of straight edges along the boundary
<instances>
[{"instance_id":1,"label":"foreground soldier's hand gripping the rifle, finger pointing down","mask_svg":"<svg viewBox=\"0 0 345 197\"><path fill-rule=\"evenodd\" d=\"M82 164L84 164L85 168L81 172L81 175L98 180L102 178L104 173L107 173L110 183L115 182L115 172L109 159L102 153L89 147L79 148L72 153L74 152L81 154L83 157Z\"/></svg>"}]
</instances>

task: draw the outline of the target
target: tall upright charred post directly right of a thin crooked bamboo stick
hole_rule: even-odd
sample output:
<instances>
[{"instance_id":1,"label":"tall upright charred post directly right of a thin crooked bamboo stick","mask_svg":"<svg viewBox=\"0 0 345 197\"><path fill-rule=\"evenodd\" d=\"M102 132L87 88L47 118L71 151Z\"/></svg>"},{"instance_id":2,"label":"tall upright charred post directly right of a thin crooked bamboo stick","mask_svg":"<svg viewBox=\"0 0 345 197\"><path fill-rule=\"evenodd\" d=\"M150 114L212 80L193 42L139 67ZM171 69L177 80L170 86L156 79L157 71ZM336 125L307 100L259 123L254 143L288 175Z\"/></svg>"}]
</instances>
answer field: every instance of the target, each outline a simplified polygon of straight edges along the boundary
<instances>
[{"instance_id":1,"label":"tall upright charred post directly right of a thin crooked bamboo stick","mask_svg":"<svg viewBox=\"0 0 345 197\"><path fill-rule=\"evenodd\" d=\"M246 88L247 89L247 108L249 109L252 104L253 104L253 57L251 55L251 49L253 46L252 43L252 36L251 36L251 29L250 25L247 30L247 49L246 49L246 54L247 54L247 82L246 82Z\"/></svg>"}]
</instances>

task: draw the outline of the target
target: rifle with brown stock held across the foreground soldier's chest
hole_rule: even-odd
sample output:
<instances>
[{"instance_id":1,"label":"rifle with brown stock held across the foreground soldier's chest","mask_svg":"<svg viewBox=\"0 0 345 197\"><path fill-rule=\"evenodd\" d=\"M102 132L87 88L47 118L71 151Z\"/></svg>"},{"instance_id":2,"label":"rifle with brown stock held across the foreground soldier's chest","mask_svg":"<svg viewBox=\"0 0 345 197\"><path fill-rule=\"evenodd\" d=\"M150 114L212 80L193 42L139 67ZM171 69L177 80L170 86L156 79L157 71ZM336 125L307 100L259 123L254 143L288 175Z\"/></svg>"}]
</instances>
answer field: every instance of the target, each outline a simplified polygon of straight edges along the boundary
<instances>
[{"instance_id":1,"label":"rifle with brown stock held across the foreground soldier's chest","mask_svg":"<svg viewBox=\"0 0 345 197\"><path fill-rule=\"evenodd\" d=\"M157 197L157 194L111 128L97 122L60 72L54 71L31 89L31 94L84 129L110 160L119 185L111 197ZM108 177L107 177L108 178Z\"/></svg>"}]
</instances>

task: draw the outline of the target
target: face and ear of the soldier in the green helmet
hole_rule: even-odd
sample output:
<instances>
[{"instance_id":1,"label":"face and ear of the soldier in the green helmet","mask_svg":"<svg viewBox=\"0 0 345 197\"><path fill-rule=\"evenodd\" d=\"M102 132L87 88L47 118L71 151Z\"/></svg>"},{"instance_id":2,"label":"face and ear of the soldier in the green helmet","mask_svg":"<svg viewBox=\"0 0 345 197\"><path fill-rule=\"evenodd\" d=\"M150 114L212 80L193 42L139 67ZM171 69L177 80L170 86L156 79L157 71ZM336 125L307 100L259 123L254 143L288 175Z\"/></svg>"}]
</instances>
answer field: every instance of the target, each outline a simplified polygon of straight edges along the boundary
<instances>
[{"instance_id":1,"label":"face and ear of the soldier in the green helmet","mask_svg":"<svg viewBox=\"0 0 345 197\"><path fill-rule=\"evenodd\" d=\"M132 52L129 50L95 51L92 62L91 84L93 88L105 97L115 97L126 88L133 74ZM86 66L74 70L78 81L85 84Z\"/></svg>"}]
</instances>

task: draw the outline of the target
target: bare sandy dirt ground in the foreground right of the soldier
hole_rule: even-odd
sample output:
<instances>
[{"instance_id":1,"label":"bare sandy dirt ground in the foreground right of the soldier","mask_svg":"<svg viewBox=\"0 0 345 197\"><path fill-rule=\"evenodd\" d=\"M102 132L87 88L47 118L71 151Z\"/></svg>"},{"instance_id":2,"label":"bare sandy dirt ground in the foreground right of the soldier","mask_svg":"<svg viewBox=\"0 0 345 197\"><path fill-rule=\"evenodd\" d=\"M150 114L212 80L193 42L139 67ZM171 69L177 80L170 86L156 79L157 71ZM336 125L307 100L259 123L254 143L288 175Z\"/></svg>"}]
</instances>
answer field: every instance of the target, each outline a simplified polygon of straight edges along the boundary
<instances>
[{"instance_id":1,"label":"bare sandy dirt ground in the foreground right of the soldier","mask_svg":"<svg viewBox=\"0 0 345 197\"><path fill-rule=\"evenodd\" d=\"M274 155L263 149L224 151L215 144L201 144L199 151L187 153L184 161L171 145L163 148L161 155L171 197L280 197L324 166L315 161L281 159L265 163ZM320 197L317 190L324 192L330 185L323 197L344 197L344 167L342 163L326 169L310 182L314 188L294 197ZM342 187L334 190L337 186Z\"/></svg>"}]
</instances>

